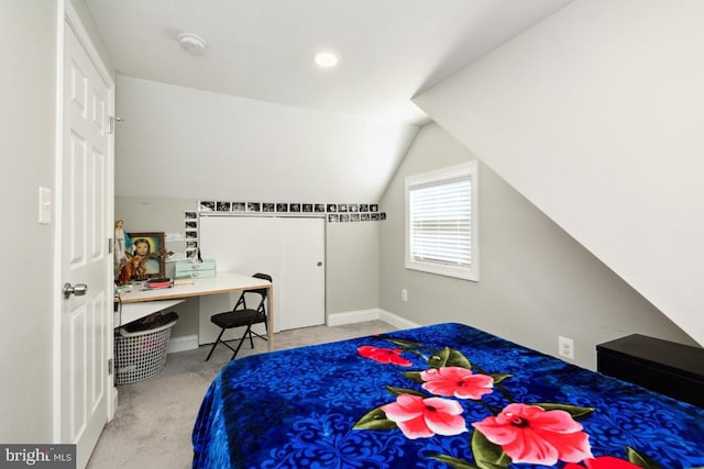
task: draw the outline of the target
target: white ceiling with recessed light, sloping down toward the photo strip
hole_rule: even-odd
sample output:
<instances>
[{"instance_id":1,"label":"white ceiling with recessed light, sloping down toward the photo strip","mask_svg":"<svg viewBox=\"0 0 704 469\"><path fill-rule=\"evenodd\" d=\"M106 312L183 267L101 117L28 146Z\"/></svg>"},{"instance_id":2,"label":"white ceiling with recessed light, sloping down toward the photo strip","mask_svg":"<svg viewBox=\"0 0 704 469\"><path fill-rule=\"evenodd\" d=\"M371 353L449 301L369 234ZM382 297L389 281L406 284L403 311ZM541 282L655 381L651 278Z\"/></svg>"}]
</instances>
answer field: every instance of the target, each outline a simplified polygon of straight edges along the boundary
<instances>
[{"instance_id":1,"label":"white ceiling with recessed light, sloping down toward the photo strip","mask_svg":"<svg viewBox=\"0 0 704 469\"><path fill-rule=\"evenodd\" d=\"M116 144L119 196L169 196L162 187L166 185L154 185L135 171L135 165L147 165L158 168L170 187L215 197L204 194L197 183L194 188L193 171L184 165L198 167L200 174L234 174L235 164L246 158L250 177L267 174L270 187L285 188L290 199L329 201L377 199L418 126L428 122L410 98L570 2L85 1L119 77L117 111L124 120ZM184 51L178 43L182 33L205 38L205 54ZM312 56L320 51L337 53L339 66L317 68ZM172 94L194 104L176 105L169 115L188 119L168 119L165 110L144 112L144 107L158 105ZM218 96L222 102L210 112L204 102L215 102ZM229 115L229 107L234 118L215 125L213 115ZM257 119L268 121L266 132L237 125L246 122L252 109ZM273 118L263 118L270 111ZM206 129L207 134L199 138L195 129ZM205 149L198 139L208 142ZM267 156L257 156L263 154ZM352 158L356 166L327 165L324 158ZM292 161L304 168L295 183L271 174ZM370 174L375 175L370 183L350 182ZM191 176L190 181L185 176ZM224 191L220 182L207 188ZM248 187L244 178L231 182L241 183L232 187L242 190L254 186ZM332 192L322 198L310 193L323 190Z\"/></svg>"}]
</instances>

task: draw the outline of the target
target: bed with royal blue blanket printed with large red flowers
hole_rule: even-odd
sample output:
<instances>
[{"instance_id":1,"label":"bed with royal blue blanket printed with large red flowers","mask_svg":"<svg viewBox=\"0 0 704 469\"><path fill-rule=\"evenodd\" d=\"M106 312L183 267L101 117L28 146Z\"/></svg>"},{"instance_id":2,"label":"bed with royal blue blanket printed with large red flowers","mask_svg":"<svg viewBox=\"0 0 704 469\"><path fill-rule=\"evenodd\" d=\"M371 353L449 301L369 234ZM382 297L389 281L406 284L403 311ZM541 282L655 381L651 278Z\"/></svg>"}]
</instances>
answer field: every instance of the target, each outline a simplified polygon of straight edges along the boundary
<instances>
[{"instance_id":1,"label":"bed with royal blue blanket printed with large red flowers","mask_svg":"<svg viewBox=\"0 0 704 469\"><path fill-rule=\"evenodd\" d=\"M702 468L704 410L476 328L248 356L208 389L196 468Z\"/></svg>"}]
</instances>

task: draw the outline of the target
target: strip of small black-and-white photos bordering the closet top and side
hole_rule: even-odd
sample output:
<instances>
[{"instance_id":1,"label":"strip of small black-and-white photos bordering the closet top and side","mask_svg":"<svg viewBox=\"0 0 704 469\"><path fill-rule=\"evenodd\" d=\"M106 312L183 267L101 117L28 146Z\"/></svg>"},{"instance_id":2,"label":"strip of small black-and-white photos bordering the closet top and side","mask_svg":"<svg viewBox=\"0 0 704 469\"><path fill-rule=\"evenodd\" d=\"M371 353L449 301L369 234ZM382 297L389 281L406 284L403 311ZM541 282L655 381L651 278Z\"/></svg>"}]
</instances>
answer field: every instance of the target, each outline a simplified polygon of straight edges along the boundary
<instances>
[{"instance_id":1,"label":"strip of small black-and-white photos bordering the closet top and side","mask_svg":"<svg viewBox=\"0 0 704 469\"><path fill-rule=\"evenodd\" d=\"M324 216L328 223L376 222L386 220L376 203L262 203L200 201L198 209L185 213L186 257L198 249L198 212L272 214L280 216Z\"/></svg>"}]
</instances>

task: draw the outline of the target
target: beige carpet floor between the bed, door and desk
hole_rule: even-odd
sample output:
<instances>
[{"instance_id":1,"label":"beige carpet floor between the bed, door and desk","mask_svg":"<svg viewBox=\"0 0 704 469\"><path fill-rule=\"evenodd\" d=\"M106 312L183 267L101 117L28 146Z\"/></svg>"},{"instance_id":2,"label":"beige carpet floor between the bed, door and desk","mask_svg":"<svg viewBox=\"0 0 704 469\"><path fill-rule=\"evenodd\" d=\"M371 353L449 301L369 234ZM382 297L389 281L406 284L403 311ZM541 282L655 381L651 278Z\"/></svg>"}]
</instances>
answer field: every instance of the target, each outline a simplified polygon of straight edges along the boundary
<instances>
[{"instance_id":1,"label":"beige carpet floor between the bed, door and desk","mask_svg":"<svg viewBox=\"0 0 704 469\"><path fill-rule=\"evenodd\" d=\"M316 326L278 333L276 349L320 344L394 331L381 321L336 327ZM244 344L239 357L266 351L266 343ZM118 387L116 417L108 423L88 462L91 469L189 468L190 432L212 378L232 353L220 345L209 361L210 346L169 354L155 377Z\"/></svg>"}]
</instances>

